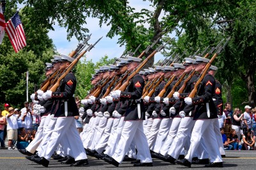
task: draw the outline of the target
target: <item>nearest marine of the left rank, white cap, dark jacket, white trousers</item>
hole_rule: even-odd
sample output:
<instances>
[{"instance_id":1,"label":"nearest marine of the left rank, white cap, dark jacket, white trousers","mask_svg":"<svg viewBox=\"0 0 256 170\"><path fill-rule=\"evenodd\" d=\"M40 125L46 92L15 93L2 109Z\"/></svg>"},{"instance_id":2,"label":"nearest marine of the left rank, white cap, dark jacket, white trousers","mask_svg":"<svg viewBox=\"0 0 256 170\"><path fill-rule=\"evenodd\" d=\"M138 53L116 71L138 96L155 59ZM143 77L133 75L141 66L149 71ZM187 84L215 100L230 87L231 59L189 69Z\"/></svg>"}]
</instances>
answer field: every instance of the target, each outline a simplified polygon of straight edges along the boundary
<instances>
[{"instance_id":1,"label":"nearest marine of the left rank, white cap, dark jacket, white trousers","mask_svg":"<svg viewBox=\"0 0 256 170\"><path fill-rule=\"evenodd\" d=\"M64 54L61 54L60 71L63 72L74 61ZM73 97L76 89L76 77L72 72L61 81L60 86L55 92L47 90L42 97L44 100L51 98L54 100L51 110L52 120L56 120L53 127L51 137L44 147L43 153L39 158L34 158L33 161L42 166L48 167L49 160L56 150L58 144L69 144L70 157L73 157L76 162L70 166L87 165L88 160L83 148L83 143L76 129L74 116L79 116L75 98ZM51 123L51 122L50 122Z\"/></svg>"}]
</instances>

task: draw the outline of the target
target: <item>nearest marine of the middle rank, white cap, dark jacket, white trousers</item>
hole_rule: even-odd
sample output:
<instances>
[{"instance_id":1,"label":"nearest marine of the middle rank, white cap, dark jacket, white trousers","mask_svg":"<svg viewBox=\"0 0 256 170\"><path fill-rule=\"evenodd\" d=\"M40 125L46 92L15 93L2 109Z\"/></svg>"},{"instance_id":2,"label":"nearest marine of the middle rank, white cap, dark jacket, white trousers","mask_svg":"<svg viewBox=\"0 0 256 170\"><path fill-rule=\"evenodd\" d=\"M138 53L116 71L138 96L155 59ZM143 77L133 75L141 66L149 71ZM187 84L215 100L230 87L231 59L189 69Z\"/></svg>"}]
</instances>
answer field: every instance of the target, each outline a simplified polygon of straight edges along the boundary
<instances>
[{"instance_id":1,"label":"nearest marine of the middle rank, white cap, dark jacket, white trousers","mask_svg":"<svg viewBox=\"0 0 256 170\"><path fill-rule=\"evenodd\" d=\"M129 72L133 72L140 65L141 59L127 59L129 60L127 70ZM123 161L133 140L138 150L138 155L140 155L140 162L135 163L134 166L152 166L152 158L147 144L147 137L143 133L145 108L140 98L143 95L142 92L144 86L145 82L143 78L137 74L132 77L131 83L127 86L125 91L116 90L110 94L113 98L120 98L122 104L126 105L126 107L122 106L115 112L116 116L121 116L122 114L125 115L122 135L120 140L116 141L118 144L116 146L115 153L113 155L109 155L111 157L104 157L106 162L113 164L116 167L118 167L118 165ZM140 107L140 113L138 112L138 107ZM141 117L138 116L139 114Z\"/></svg>"}]
</instances>

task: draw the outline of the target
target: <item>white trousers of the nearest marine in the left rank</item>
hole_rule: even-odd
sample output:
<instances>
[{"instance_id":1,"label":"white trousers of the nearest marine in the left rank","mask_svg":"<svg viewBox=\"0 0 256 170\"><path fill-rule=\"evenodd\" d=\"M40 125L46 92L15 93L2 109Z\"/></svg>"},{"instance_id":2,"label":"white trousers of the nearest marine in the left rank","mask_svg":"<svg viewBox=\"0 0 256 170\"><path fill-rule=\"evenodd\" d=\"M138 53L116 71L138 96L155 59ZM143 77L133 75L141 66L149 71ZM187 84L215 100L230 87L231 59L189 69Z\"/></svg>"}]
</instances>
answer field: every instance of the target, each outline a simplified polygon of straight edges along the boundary
<instances>
[{"instance_id":1,"label":"white trousers of the nearest marine in the left rank","mask_svg":"<svg viewBox=\"0 0 256 170\"><path fill-rule=\"evenodd\" d=\"M43 157L50 160L52 154L62 140L67 140L70 144L70 148L67 148L70 151L68 155L74 157L75 160L87 158L83 143L76 128L74 117L57 118L51 138L45 147L46 149L44 150Z\"/></svg>"}]
</instances>

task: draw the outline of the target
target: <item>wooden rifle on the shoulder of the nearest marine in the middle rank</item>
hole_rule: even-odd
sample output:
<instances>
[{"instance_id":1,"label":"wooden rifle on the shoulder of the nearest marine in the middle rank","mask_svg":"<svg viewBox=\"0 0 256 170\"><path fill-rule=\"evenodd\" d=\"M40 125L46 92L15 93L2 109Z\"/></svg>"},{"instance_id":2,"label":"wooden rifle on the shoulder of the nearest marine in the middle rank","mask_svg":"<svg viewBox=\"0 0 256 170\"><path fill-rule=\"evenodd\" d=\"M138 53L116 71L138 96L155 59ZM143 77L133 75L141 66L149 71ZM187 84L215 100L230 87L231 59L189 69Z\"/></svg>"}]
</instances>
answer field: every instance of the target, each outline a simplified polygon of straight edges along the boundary
<instances>
[{"instance_id":1,"label":"wooden rifle on the shoulder of the nearest marine in the middle rank","mask_svg":"<svg viewBox=\"0 0 256 170\"><path fill-rule=\"evenodd\" d=\"M169 43L170 40L167 42ZM140 72L141 68L143 68L143 66L146 65L147 61L152 58L157 52L159 52L160 50L162 50L167 43L165 43L164 45L160 45L156 50L154 50L154 52L152 52L144 61L142 61L140 63L140 65L138 66L138 68L136 70L134 70L134 72L131 73L131 75L129 75L129 77L127 77L127 80L124 82L124 84L122 84L122 86L119 88L119 90L121 91L125 91L126 87L128 86L129 82L131 81L132 77L134 77L138 72Z\"/></svg>"}]
</instances>

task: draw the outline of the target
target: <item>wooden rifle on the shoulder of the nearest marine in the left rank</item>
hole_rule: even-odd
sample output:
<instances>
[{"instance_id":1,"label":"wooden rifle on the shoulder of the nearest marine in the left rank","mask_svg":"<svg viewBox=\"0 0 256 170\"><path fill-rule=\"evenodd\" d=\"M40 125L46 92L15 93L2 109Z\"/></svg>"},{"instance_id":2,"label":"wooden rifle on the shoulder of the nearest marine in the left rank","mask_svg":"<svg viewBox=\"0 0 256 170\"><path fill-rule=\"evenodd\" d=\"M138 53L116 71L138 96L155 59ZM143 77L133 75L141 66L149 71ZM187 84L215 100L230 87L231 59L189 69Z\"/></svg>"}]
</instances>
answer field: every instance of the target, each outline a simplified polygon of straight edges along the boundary
<instances>
[{"instance_id":1,"label":"wooden rifle on the shoulder of the nearest marine in the left rank","mask_svg":"<svg viewBox=\"0 0 256 170\"><path fill-rule=\"evenodd\" d=\"M95 42L93 45L90 45L86 50L81 52L81 54L79 54L79 56L77 56L77 58L74 61L72 61L72 63L70 63L70 65L64 70L64 72L61 73L60 77L58 78L54 86L52 86L52 88L50 89L51 91L57 90L57 88L60 86L60 81L72 70L72 68L74 68L79 59L82 58L87 51L90 51L101 40L101 38L99 38L99 40L97 40L97 42Z\"/></svg>"}]
</instances>

